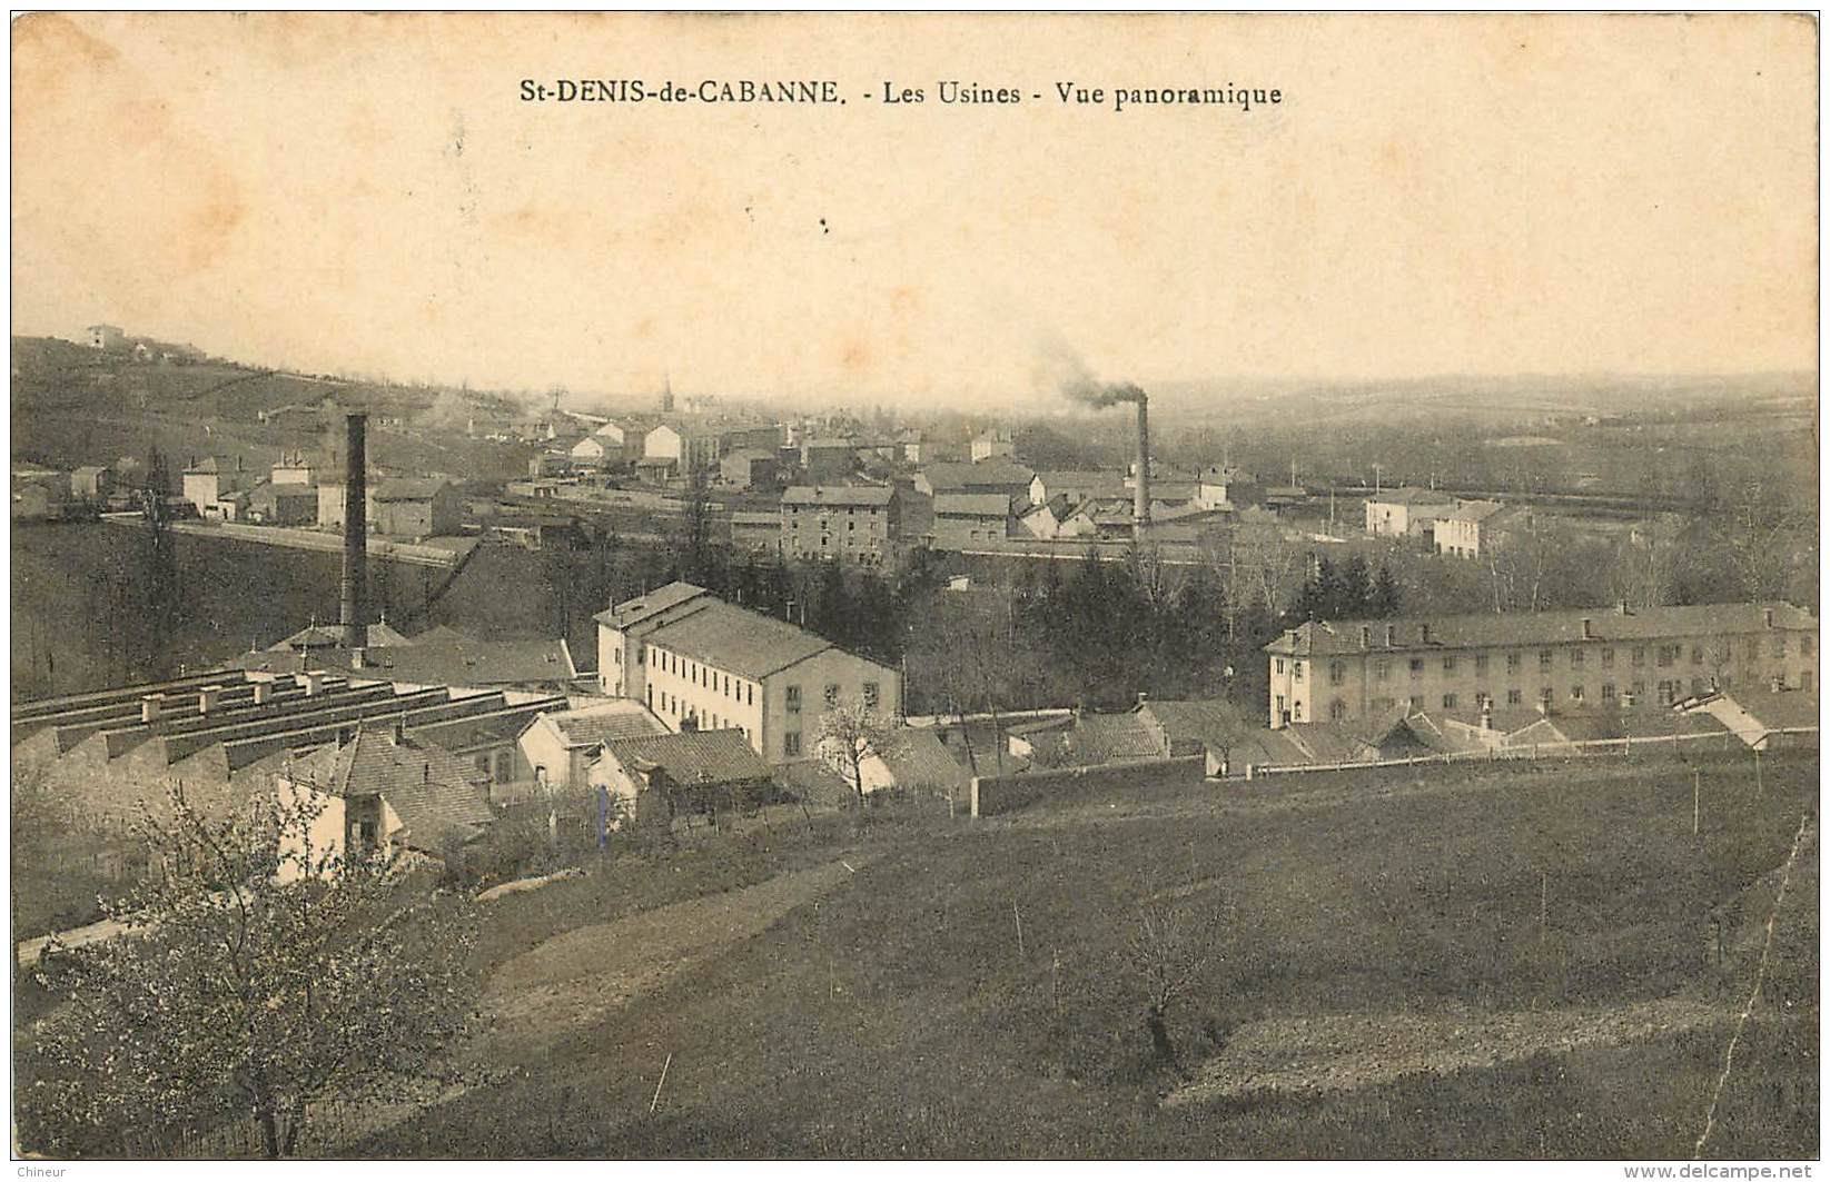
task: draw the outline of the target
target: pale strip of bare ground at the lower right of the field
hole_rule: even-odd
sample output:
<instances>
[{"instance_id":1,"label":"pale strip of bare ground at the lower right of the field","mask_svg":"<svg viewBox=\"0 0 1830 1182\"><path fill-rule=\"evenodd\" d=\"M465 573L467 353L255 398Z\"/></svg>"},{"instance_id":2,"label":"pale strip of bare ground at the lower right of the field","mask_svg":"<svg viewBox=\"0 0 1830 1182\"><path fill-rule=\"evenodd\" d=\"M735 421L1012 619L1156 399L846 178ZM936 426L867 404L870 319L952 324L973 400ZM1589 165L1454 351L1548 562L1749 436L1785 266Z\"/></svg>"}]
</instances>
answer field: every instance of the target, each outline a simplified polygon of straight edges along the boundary
<instances>
[{"instance_id":1,"label":"pale strip of bare ground at the lower right of the field","mask_svg":"<svg viewBox=\"0 0 1830 1182\"><path fill-rule=\"evenodd\" d=\"M1539 1052L1642 1043L1728 1023L1733 1014L1689 997L1605 1010L1504 1014L1323 1014L1241 1026L1200 1074L1164 1103L1200 1103L1257 1091L1338 1092L1413 1072L1493 1067Z\"/></svg>"}]
</instances>

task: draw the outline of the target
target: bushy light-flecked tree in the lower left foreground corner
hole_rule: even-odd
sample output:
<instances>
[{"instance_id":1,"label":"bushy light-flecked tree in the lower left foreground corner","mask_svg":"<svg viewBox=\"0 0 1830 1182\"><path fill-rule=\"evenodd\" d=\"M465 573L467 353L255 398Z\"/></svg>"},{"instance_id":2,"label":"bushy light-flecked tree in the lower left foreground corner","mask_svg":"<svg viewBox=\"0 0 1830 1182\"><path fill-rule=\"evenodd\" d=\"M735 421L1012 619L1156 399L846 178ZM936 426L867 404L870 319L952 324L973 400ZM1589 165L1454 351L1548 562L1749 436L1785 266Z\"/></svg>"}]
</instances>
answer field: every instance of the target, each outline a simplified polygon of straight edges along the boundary
<instances>
[{"instance_id":1,"label":"bushy light-flecked tree in the lower left foreground corner","mask_svg":"<svg viewBox=\"0 0 1830 1182\"><path fill-rule=\"evenodd\" d=\"M117 1153L251 1116L278 1158L313 1101L434 1072L472 1012L470 913L399 860L315 847L318 814L260 794L216 822L174 789L141 818L154 873L104 904L126 935L40 961L64 1005L33 1034L26 1144Z\"/></svg>"}]
</instances>

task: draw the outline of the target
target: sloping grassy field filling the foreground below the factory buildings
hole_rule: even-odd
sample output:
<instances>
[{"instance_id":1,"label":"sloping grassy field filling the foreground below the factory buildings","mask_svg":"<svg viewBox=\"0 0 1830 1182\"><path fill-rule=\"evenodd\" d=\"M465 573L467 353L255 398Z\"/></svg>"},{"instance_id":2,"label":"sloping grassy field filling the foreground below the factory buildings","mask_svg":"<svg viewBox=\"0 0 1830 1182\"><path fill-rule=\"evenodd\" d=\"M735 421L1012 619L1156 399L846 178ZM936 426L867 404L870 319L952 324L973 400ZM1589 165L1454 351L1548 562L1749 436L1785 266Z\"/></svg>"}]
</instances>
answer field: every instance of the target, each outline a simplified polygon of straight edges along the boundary
<instances>
[{"instance_id":1,"label":"sloping grassy field filling the foreground below the factory buildings","mask_svg":"<svg viewBox=\"0 0 1830 1182\"><path fill-rule=\"evenodd\" d=\"M509 1078L350 1149L1689 1156L1817 800L1815 759L1768 759L1759 789L1748 756L1696 767L1696 838L1691 767L1660 759L778 825L617 860L490 913L472 1054ZM1812 829L1709 1156L1817 1153L1815 900ZM1140 909L1219 922L1169 1010L1175 1065L1120 962ZM642 962L664 968L631 979ZM1685 1017L1607 1036L1638 1014ZM1362 1030L1330 1052L1345 1067L1427 1063L1389 1045L1409 1028L1453 1054L1190 1100L1230 1045L1327 1023ZM1484 1047L1497 1025L1543 1037Z\"/></svg>"}]
</instances>

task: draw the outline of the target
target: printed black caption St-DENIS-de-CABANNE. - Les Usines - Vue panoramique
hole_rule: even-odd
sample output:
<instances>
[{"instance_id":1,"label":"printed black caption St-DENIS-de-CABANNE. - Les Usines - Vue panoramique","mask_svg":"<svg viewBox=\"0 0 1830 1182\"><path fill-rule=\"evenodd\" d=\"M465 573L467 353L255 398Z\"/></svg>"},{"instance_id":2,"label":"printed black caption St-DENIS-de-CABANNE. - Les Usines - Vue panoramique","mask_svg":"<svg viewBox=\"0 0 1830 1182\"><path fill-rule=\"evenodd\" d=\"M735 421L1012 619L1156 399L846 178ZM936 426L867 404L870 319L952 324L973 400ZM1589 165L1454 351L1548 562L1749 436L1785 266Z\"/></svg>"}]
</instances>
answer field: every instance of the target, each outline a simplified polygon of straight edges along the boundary
<instances>
[{"instance_id":1,"label":"printed black caption St-DENIS-de-CABANNE. - Les Usines - Vue panoramique","mask_svg":"<svg viewBox=\"0 0 1830 1182\"><path fill-rule=\"evenodd\" d=\"M844 106L845 93L838 82L822 79L703 79L699 82L644 82L642 79L522 79L522 102L767 102L783 106ZM1047 91L1025 91L1019 86L985 86L979 82L942 81L930 86L884 82L882 90L867 90L862 101L884 106L1019 106L1023 102L1056 102L1063 106L1109 106L1122 112L1127 106L1230 106L1250 112L1257 106L1279 106L1283 90L1266 86L1091 86L1085 82L1054 82Z\"/></svg>"}]
</instances>

